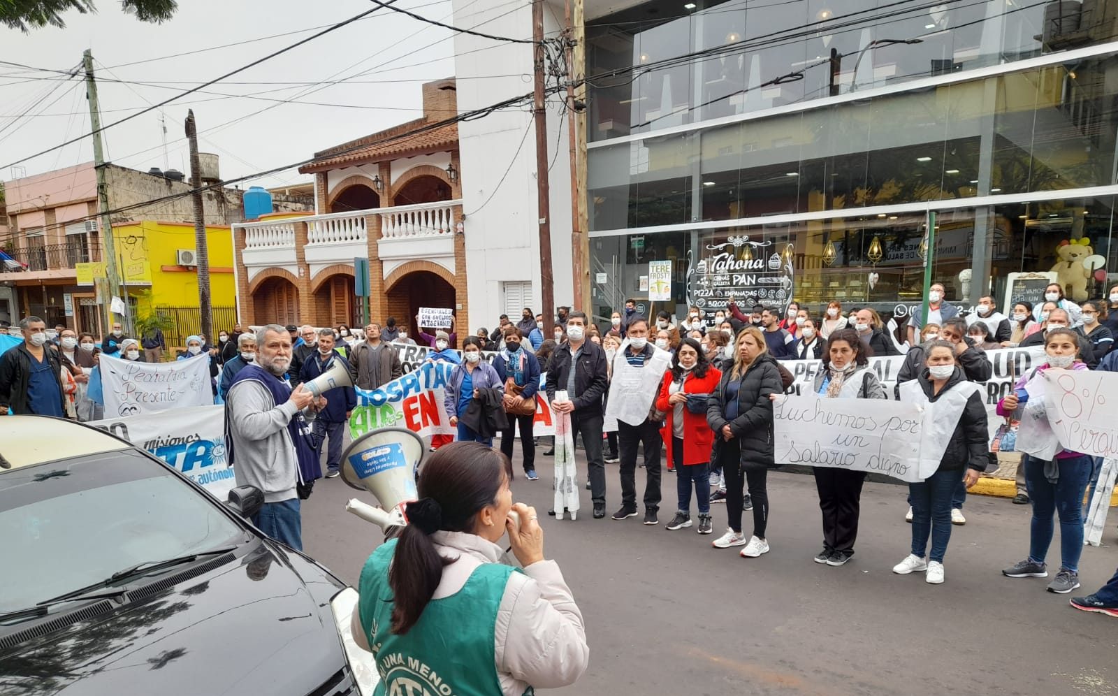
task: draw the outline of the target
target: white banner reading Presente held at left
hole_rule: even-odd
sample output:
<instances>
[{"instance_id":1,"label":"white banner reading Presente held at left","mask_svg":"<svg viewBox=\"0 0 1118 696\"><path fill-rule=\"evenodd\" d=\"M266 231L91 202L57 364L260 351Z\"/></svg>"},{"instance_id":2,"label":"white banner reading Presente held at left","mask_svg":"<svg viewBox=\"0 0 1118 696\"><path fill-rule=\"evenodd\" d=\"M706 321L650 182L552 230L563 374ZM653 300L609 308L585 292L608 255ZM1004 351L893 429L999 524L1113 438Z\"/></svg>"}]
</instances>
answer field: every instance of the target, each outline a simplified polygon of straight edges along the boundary
<instances>
[{"instance_id":1,"label":"white banner reading Presente held at left","mask_svg":"<svg viewBox=\"0 0 1118 696\"><path fill-rule=\"evenodd\" d=\"M168 408L212 406L209 360L133 363L102 354L101 382L105 413L133 416Z\"/></svg>"}]
</instances>

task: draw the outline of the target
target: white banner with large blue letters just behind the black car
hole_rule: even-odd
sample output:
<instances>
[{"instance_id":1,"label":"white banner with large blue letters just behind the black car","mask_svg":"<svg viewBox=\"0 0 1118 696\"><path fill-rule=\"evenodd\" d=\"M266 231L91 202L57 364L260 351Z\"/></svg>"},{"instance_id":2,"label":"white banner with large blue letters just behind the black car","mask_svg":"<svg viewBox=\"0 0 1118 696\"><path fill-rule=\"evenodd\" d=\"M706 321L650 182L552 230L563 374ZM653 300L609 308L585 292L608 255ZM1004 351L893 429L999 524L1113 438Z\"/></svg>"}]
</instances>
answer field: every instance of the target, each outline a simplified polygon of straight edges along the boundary
<instances>
[{"instance_id":1,"label":"white banner with large blue letters just behind the black car","mask_svg":"<svg viewBox=\"0 0 1118 696\"><path fill-rule=\"evenodd\" d=\"M89 425L148 450L218 500L225 500L229 489L236 486L233 465L226 458L225 408L221 406L141 413L91 421Z\"/></svg>"}]
</instances>

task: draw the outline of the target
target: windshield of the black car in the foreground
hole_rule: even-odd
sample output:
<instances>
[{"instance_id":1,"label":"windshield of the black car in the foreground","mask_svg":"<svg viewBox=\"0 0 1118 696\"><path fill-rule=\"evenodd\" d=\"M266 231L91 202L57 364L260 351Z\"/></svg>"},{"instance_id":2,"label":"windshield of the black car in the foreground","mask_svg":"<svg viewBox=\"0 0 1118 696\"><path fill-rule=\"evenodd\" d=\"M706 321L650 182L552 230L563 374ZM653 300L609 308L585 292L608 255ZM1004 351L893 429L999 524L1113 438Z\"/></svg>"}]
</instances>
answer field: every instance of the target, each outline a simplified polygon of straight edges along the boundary
<instances>
[{"instance_id":1,"label":"windshield of the black car in the foreground","mask_svg":"<svg viewBox=\"0 0 1118 696\"><path fill-rule=\"evenodd\" d=\"M0 471L0 613L244 539L218 505L136 451Z\"/></svg>"}]
</instances>

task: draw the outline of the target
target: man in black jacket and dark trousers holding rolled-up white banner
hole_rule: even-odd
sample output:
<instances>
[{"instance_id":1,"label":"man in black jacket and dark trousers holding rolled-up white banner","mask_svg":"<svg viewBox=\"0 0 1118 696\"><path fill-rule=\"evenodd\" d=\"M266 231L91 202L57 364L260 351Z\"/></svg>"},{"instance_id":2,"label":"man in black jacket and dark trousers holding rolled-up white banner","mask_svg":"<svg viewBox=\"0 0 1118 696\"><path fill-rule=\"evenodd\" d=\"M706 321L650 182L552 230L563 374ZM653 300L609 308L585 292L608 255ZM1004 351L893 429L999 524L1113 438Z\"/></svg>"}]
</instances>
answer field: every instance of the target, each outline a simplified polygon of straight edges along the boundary
<instances>
[{"instance_id":1,"label":"man in black jacket and dark trousers holding rolled-up white banner","mask_svg":"<svg viewBox=\"0 0 1118 696\"><path fill-rule=\"evenodd\" d=\"M568 340L551 354L547 389L551 408L569 413L571 432L582 435L594 518L601 519L606 516L601 397L609 386L609 379L606 376L606 351L594 341L586 340L586 314L582 312L571 312L567 318ZM556 402L556 392L562 391L567 392L569 401Z\"/></svg>"}]
</instances>

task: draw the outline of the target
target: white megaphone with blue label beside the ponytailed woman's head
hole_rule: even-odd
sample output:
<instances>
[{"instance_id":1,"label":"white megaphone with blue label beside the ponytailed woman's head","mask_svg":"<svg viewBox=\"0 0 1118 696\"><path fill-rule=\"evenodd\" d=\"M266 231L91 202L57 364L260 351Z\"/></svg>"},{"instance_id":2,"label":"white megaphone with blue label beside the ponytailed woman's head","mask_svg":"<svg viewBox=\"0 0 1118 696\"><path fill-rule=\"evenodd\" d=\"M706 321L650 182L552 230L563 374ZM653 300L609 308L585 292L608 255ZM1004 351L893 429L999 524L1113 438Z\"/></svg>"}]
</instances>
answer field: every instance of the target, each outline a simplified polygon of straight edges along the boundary
<instances>
[{"instance_id":1,"label":"white megaphone with blue label beside the ponytailed woman's head","mask_svg":"<svg viewBox=\"0 0 1118 696\"><path fill-rule=\"evenodd\" d=\"M394 536L408 524L405 507L419 497L415 472L425 452L419 435L406 427L380 427L354 440L342 452L342 480L376 496L380 507L352 498L345 504L345 511Z\"/></svg>"}]
</instances>

